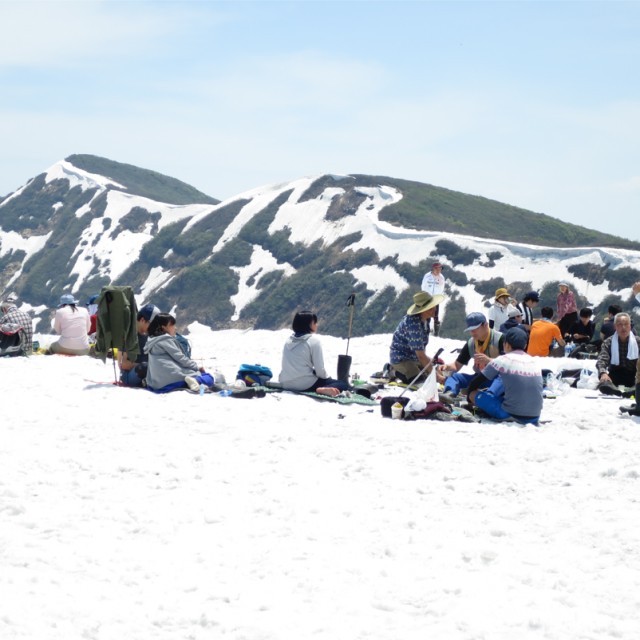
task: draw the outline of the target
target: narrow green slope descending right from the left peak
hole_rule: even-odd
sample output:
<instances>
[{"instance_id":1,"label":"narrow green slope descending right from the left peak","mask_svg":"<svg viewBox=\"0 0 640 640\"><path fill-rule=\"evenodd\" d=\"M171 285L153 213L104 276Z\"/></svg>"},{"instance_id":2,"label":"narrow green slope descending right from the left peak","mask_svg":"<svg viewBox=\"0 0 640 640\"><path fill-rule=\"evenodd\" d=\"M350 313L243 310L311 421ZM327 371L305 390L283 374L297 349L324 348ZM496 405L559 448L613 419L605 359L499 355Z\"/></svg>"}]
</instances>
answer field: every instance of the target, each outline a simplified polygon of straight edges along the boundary
<instances>
[{"instance_id":1,"label":"narrow green slope descending right from the left peak","mask_svg":"<svg viewBox=\"0 0 640 640\"><path fill-rule=\"evenodd\" d=\"M65 160L78 169L115 180L126 187L128 193L158 202L168 204L218 204L220 202L176 178L170 178L149 169L140 169L131 164L86 154L75 154Z\"/></svg>"}]
</instances>

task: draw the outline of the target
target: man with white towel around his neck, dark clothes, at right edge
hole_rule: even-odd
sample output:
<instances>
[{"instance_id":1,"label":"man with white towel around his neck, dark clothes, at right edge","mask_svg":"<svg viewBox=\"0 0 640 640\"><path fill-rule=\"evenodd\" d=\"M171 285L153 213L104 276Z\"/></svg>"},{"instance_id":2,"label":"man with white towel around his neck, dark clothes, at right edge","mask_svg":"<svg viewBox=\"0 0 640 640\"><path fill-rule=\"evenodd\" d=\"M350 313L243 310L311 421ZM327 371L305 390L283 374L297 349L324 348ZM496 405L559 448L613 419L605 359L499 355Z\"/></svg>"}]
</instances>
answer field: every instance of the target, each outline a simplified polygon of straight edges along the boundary
<instances>
[{"instance_id":1,"label":"man with white towel around his neck, dark clothes, at right edge","mask_svg":"<svg viewBox=\"0 0 640 640\"><path fill-rule=\"evenodd\" d=\"M598 389L602 393L620 396L617 387L632 387L636 383L640 338L631 333L631 318L628 313L618 313L613 320L615 334L602 343L596 365L600 376Z\"/></svg>"}]
</instances>

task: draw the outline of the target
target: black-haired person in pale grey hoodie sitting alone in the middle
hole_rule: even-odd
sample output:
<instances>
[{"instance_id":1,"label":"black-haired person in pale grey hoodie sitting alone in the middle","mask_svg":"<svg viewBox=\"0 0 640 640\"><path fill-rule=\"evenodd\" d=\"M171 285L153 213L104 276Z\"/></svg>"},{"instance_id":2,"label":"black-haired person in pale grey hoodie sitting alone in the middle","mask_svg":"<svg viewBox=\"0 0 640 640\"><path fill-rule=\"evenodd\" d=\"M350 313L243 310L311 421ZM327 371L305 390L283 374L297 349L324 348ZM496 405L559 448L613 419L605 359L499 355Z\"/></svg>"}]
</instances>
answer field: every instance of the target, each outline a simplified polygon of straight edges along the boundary
<instances>
[{"instance_id":1,"label":"black-haired person in pale grey hoodie sitting alone in the middle","mask_svg":"<svg viewBox=\"0 0 640 640\"><path fill-rule=\"evenodd\" d=\"M280 383L290 391L315 392L337 396L349 385L330 378L324 368L322 345L318 333L318 317L311 311L298 311L291 324L293 334L282 350Z\"/></svg>"}]
</instances>

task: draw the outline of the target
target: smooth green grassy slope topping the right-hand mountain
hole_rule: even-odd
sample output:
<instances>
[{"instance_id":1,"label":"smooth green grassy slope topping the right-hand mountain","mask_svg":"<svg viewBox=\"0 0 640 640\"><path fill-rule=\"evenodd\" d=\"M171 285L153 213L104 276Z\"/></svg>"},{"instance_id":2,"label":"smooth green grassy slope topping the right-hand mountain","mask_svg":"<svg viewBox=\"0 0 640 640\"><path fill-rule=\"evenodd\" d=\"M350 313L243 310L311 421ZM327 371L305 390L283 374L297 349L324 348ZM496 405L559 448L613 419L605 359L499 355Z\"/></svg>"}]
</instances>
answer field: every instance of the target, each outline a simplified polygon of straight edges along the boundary
<instances>
[{"instance_id":1,"label":"smooth green grassy slope topping the right-hand mountain","mask_svg":"<svg viewBox=\"0 0 640 640\"><path fill-rule=\"evenodd\" d=\"M380 220L407 229L446 231L479 238L549 247L619 247L640 250L640 242L592 231L508 204L430 184L353 174L357 186L388 185L402 200L382 210Z\"/></svg>"}]
</instances>

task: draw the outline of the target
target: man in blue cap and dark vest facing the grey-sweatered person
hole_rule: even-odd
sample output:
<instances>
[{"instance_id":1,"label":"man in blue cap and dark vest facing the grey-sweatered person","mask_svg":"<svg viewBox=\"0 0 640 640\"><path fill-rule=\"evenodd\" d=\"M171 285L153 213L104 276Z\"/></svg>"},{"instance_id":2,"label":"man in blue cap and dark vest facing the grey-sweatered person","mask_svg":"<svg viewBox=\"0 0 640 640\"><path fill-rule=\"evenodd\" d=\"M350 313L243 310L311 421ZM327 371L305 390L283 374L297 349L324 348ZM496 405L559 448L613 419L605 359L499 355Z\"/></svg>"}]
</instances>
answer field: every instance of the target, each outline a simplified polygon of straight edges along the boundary
<instances>
[{"instance_id":1,"label":"man in blue cap and dark vest facing the grey-sweatered person","mask_svg":"<svg viewBox=\"0 0 640 640\"><path fill-rule=\"evenodd\" d=\"M484 313L479 311L470 313L466 323L465 331L471 334L471 338L462 347L455 362L438 367L438 372L441 374L444 374L445 371L455 372L445 380L444 393L440 394L440 399L447 402L452 402L460 393L460 389L467 389L477 374L482 373L494 358L504 353L504 337L499 331L489 328ZM521 329L516 329L516 331L524 334ZM474 373L459 373L460 369L471 360L473 360Z\"/></svg>"}]
</instances>

